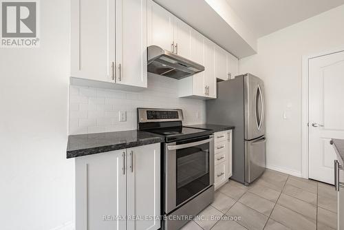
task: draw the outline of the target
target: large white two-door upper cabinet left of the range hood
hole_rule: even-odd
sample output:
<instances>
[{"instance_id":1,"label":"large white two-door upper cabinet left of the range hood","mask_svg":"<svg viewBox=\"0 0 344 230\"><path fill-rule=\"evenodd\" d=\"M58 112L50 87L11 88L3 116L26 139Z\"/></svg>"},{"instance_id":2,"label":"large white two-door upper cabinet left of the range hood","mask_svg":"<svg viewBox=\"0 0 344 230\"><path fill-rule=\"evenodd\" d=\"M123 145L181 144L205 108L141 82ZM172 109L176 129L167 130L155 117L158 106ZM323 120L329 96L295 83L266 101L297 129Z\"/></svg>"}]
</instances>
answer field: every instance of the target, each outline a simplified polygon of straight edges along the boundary
<instances>
[{"instance_id":1,"label":"large white two-door upper cabinet left of the range hood","mask_svg":"<svg viewBox=\"0 0 344 230\"><path fill-rule=\"evenodd\" d=\"M147 0L72 0L71 68L72 84L147 87Z\"/></svg>"}]
</instances>

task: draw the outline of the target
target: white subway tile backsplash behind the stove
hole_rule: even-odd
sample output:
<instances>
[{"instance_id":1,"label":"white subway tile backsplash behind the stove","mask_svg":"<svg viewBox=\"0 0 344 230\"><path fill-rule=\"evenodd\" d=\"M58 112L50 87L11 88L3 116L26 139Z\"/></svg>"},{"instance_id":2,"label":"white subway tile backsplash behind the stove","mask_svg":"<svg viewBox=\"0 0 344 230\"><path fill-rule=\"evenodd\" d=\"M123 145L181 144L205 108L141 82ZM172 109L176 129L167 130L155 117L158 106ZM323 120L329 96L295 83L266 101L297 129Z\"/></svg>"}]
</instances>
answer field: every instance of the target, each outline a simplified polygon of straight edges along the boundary
<instances>
[{"instance_id":1,"label":"white subway tile backsplash behind the stove","mask_svg":"<svg viewBox=\"0 0 344 230\"><path fill-rule=\"evenodd\" d=\"M183 124L205 121L204 101L178 98L178 80L149 74L148 88L124 92L92 87L69 87L69 134L116 132L137 128L136 108L183 109ZM127 111L127 121L119 122L119 112Z\"/></svg>"}]
</instances>

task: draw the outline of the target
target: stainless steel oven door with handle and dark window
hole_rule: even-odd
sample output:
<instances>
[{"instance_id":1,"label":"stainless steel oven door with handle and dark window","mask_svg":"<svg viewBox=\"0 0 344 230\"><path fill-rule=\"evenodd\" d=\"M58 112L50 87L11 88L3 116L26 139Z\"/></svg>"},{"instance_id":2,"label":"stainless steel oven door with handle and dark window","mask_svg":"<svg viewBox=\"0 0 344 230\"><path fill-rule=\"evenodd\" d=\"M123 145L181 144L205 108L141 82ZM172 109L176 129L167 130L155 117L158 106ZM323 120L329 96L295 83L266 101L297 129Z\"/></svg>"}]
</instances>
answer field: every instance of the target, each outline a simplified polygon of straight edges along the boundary
<instances>
[{"instance_id":1,"label":"stainless steel oven door with handle and dark window","mask_svg":"<svg viewBox=\"0 0 344 230\"><path fill-rule=\"evenodd\" d=\"M165 213L180 207L214 183L213 136L165 144Z\"/></svg>"}]
</instances>

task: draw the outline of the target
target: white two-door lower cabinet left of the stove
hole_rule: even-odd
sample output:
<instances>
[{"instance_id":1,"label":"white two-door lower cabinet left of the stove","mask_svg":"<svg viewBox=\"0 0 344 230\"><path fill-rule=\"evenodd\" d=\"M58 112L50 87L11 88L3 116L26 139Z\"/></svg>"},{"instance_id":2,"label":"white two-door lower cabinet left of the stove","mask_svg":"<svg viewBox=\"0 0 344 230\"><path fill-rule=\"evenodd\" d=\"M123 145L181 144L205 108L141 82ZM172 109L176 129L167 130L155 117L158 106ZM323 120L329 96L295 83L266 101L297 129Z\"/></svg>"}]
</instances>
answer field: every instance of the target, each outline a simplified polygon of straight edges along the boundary
<instances>
[{"instance_id":1,"label":"white two-door lower cabinet left of the stove","mask_svg":"<svg viewBox=\"0 0 344 230\"><path fill-rule=\"evenodd\" d=\"M78 157L76 230L160 228L160 143Z\"/></svg>"}]
</instances>

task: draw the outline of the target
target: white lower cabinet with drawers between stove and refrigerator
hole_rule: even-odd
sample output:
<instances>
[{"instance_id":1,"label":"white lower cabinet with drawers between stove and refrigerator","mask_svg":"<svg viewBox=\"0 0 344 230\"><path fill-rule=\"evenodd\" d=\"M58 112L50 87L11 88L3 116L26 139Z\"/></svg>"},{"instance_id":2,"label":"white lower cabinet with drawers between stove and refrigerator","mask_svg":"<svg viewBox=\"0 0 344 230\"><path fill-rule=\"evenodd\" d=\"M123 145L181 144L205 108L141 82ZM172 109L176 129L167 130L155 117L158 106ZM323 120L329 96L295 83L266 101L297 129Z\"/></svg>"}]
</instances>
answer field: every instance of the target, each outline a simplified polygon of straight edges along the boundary
<instances>
[{"instance_id":1,"label":"white lower cabinet with drawers between stove and refrigerator","mask_svg":"<svg viewBox=\"0 0 344 230\"><path fill-rule=\"evenodd\" d=\"M214 133L215 190L226 184L233 175L233 132L232 130Z\"/></svg>"}]
</instances>

